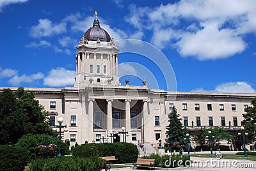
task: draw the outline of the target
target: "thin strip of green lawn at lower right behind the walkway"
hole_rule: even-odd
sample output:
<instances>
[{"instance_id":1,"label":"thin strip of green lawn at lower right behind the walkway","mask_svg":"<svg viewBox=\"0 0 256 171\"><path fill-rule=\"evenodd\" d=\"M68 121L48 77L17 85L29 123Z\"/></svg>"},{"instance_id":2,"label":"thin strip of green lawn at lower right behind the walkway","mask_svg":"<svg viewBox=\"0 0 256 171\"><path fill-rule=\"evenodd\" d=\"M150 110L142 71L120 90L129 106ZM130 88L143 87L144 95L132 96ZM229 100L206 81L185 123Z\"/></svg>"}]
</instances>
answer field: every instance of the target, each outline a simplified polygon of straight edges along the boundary
<instances>
[{"instance_id":1,"label":"thin strip of green lawn at lower right behind the walkway","mask_svg":"<svg viewBox=\"0 0 256 171\"><path fill-rule=\"evenodd\" d=\"M215 158L215 155L211 156L210 154L191 154L193 157L198 158ZM256 156L248 155L247 158L244 158L243 155L236 155L236 154L222 154L223 159L233 159L233 160L252 160L256 161Z\"/></svg>"}]
</instances>

